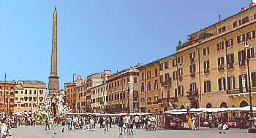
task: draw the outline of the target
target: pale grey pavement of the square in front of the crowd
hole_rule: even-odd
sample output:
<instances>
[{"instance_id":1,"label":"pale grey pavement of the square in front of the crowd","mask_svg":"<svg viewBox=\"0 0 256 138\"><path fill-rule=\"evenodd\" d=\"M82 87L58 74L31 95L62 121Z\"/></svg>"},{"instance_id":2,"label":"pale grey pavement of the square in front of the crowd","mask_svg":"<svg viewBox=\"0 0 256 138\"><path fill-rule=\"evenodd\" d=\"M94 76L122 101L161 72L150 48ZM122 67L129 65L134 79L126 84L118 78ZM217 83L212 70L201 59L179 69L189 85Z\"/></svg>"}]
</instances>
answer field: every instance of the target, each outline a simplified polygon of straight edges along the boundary
<instances>
[{"instance_id":1,"label":"pale grey pavement of the square in front of the crowd","mask_svg":"<svg viewBox=\"0 0 256 138\"><path fill-rule=\"evenodd\" d=\"M106 132L103 129L89 130L65 130L64 133L60 132L60 127L57 127L55 131L58 132L58 138L251 138L256 137L256 134L248 134L245 129L230 129L227 134L219 134L217 129L200 128L199 131L189 130L157 130L146 131L145 129L135 129L135 134L123 134L118 135L118 128L113 126L110 131ZM18 129L12 129L12 136L14 138L52 138L53 130L45 131L44 126L22 126Z\"/></svg>"}]
</instances>

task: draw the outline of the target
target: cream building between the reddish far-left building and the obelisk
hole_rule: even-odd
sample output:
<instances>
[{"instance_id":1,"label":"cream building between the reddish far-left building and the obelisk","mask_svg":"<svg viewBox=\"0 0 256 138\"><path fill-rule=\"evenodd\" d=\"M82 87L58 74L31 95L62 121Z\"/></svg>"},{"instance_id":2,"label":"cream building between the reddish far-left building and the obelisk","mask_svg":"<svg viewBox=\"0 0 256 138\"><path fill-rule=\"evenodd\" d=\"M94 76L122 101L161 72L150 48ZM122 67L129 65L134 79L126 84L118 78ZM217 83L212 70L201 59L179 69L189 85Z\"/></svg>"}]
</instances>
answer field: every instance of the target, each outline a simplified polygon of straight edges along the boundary
<instances>
[{"instance_id":1,"label":"cream building between the reddish far-left building and the obelisk","mask_svg":"<svg viewBox=\"0 0 256 138\"><path fill-rule=\"evenodd\" d=\"M42 81L18 81L15 85L15 113L26 113L43 103L47 87Z\"/></svg>"}]
</instances>

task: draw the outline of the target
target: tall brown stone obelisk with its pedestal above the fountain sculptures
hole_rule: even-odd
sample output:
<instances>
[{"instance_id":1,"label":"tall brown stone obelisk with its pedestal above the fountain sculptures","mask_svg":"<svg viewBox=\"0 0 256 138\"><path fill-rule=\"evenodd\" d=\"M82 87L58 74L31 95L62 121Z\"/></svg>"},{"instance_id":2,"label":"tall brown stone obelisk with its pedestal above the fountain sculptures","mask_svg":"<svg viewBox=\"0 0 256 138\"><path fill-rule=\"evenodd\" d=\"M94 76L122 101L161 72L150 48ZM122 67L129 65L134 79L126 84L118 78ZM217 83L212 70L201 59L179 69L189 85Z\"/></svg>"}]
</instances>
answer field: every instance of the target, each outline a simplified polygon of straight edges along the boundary
<instances>
[{"instance_id":1,"label":"tall brown stone obelisk with its pedestal above the fountain sculptures","mask_svg":"<svg viewBox=\"0 0 256 138\"><path fill-rule=\"evenodd\" d=\"M59 76L57 74L57 7L53 12L53 38L51 52L51 70L48 84L49 94L59 92Z\"/></svg>"}]
</instances>

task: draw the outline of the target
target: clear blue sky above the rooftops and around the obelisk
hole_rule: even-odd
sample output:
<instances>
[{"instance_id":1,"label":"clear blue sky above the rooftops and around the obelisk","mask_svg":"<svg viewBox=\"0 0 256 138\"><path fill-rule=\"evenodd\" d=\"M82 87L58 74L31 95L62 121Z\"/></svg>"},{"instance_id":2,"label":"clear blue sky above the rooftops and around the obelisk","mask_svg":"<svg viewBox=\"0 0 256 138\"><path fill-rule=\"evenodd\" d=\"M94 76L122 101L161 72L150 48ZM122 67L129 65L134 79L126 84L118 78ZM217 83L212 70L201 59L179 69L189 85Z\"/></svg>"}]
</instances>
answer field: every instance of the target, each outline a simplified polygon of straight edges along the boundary
<instances>
[{"instance_id":1,"label":"clear blue sky above the rooftops and around the obelisk","mask_svg":"<svg viewBox=\"0 0 256 138\"><path fill-rule=\"evenodd\" d=\"M178 41L249 7L250 0L0 1L0 80L48 84L54 4L58 4L60 88L102 70L123 70L176 52Z\"/></svg>"}]
</instances>

